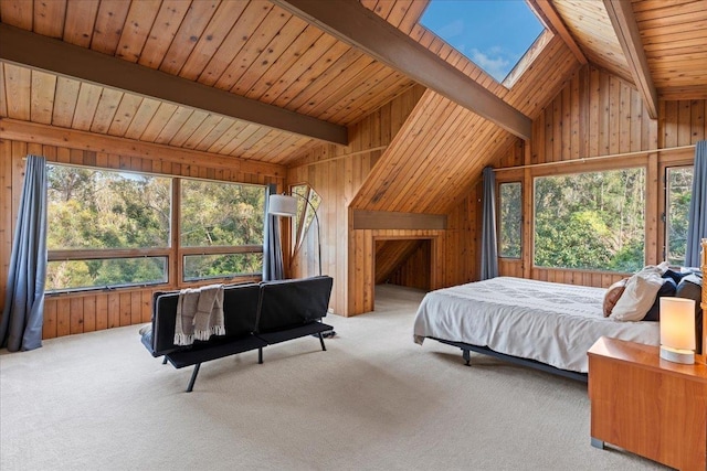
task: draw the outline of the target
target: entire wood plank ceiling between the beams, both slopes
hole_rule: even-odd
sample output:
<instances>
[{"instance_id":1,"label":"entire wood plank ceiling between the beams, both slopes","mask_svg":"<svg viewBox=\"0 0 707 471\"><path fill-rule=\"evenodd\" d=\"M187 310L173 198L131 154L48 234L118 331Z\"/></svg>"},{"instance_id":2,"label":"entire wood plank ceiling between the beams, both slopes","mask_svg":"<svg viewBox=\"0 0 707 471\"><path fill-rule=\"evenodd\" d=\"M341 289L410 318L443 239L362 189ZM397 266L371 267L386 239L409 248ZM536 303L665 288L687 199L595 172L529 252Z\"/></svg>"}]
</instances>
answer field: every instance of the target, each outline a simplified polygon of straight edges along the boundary
<instances>
[{"instance_id":1,"label":"entire wood plank ceiling between the beams, both slopes","mask_svg":"<svg viewBox=\"0 0 707 471\"><path fill-rule=\"evenodd\" d=\"M361 3L531 118L578 67L562 40L547 36L508 89L418 24L425 0ZM601 0L550 4L592 65L633 83ZM658 96L706 98L707 1L633 0L632 7ZM0 0L0 21L340 126L413 85L266 0ZM284 165L320 146L208 110L0 63L6 117ZM444 213L513 142L508 132L428 92L355 207ZM429 191L435 185L447 186L444 197L439 188ZM400 194L411 193L415 197L404 203Z\"/></svg>"}]
</instances>

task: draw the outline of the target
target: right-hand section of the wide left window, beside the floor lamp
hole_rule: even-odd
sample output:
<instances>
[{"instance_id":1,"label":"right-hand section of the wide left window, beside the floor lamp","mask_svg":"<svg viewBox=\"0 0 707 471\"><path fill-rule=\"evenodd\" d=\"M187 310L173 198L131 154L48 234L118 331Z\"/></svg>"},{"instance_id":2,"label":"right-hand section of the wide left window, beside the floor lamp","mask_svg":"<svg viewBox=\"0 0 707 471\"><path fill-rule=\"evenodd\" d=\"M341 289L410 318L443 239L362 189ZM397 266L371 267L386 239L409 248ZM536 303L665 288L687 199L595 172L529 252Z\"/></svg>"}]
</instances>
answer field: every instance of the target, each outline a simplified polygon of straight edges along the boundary
<instances>
[{"instance_id":1,"label":"right-hand section of the wide left window, beside the floor lamp","mask_svg":"<svg viewBox=\"0 0 707 471\"><path fill-rule=\"evenodd\" d=\"M265 188L181 181L183 280L263 271Z\"/></svg>"}]
</instances>

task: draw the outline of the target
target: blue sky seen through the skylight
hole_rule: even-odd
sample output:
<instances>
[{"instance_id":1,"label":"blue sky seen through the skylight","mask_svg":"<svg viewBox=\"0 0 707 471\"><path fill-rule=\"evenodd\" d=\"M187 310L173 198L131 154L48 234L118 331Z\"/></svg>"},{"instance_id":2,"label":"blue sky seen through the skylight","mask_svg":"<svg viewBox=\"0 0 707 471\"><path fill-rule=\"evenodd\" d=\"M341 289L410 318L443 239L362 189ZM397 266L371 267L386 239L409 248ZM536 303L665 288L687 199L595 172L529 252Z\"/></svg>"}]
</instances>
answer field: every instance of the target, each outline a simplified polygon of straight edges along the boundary
<instances>
[{"instance_id":1,"label":"blue sky seen through the skylight","mask_svg":"<svg viewBox=\"0 0 707 471\"><path fill-rule=\"evenodd\" d=\"M420 23L498 82L544 30L524 0L430 0Z\"/></svg>"}]
</instances>

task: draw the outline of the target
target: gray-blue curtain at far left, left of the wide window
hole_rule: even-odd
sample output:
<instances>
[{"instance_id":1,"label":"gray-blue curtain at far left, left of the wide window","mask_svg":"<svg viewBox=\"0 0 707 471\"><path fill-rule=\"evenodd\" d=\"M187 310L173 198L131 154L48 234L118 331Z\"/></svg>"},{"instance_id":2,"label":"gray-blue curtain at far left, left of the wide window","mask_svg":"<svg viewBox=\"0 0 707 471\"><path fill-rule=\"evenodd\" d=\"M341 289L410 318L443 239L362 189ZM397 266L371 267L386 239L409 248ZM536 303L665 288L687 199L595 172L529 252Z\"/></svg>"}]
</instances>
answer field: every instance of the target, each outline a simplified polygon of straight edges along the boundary
<instances>
[{"instance_id":1,"label":"gray-blue curtain at far left, left of the wide window","mask_svg":"<svg viewBox=\"0 0 707 471\"><path fill-rule=\"evenodd\" d=\"M42 346L45 278L46 161L28 156L0 320L0 345L10 352Z\"/></svg>"}]
</instances>

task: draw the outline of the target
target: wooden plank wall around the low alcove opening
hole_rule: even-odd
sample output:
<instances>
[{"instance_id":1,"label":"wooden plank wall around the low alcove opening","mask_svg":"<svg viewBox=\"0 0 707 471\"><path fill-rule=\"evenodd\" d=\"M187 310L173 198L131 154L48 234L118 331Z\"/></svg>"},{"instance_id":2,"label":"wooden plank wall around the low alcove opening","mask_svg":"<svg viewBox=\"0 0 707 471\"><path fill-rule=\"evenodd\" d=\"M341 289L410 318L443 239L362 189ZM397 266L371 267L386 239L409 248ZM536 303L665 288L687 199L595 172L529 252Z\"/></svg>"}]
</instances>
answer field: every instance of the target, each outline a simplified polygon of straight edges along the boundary
<instances>
[{"instance_id":1,"label":"wooden plank wall around the low alcove opening","mask_svg":"<svg viewBox=\"0 0 707 471\"><path fill-rule=\"evenodd\" d=\"M350 203L378 162L386 146L405 122L424 89L415 87L383 106L349 129L348 148L323 146L309 152L288 171L287 183L309 183L321 196L323 270L334 277L334 312L355 315L374 309L376 242L399 239L430 240L432 269L430 288L455 285L475 278L477 197L463 195L447 214L446 229L351 229ZM371 151L363 151L373 149ZM292 261L292 276L316 274L316 235ZM408 277L400 274L401 277Z\"/></svg>"}]
</instances>

